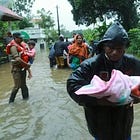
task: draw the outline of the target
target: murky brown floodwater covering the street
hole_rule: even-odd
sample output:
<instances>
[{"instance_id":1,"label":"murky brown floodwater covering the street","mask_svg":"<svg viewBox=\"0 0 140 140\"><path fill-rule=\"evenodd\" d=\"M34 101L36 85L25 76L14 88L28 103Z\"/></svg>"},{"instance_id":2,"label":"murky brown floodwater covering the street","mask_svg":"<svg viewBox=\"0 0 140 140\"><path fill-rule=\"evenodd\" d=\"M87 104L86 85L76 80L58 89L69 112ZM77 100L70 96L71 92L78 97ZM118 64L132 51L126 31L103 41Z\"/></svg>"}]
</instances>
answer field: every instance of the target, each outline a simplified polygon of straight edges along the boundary
<instances>
[{"instance_id":1,"label":"murky brown floodwater covering the street","mask_svg":"<svg viewBox=\"0 0 140 140\"><path fill-rule=\"evenodd\" d=\"M30 98L8 104L13 80L10 63L0 65L0 140L93 140L82 107L67 94L70 69L50 69L46 51L37 53L27 79ZM132 136L140 140L140 108L135 105Z\"/></svg>"}]
</instances>

